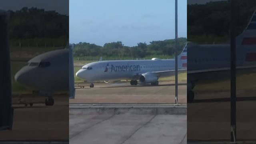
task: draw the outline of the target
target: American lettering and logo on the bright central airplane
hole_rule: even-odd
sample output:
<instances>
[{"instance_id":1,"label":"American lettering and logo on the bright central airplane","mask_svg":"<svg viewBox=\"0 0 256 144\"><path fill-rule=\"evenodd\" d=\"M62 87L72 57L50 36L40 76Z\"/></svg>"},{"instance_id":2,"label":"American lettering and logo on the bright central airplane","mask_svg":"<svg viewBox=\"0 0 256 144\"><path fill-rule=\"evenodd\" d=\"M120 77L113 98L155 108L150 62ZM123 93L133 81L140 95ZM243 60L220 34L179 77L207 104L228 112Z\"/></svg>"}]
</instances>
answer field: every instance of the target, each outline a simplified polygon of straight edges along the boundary
<instances>
[{"instance_id":1,"label":"American lettering and logo on the bright central airplane","mask_svg":"<svg viewBox=\"0 0 256 144\"><path fill-rule=\"evenodd\" d=\"M107 64L106 69L104 72L108 72L108 66ZM130 72L130 71L140 71L140 65L121 65L121 66L114 66L111 64L110 72Z\"/></svg>"}]
</instances>

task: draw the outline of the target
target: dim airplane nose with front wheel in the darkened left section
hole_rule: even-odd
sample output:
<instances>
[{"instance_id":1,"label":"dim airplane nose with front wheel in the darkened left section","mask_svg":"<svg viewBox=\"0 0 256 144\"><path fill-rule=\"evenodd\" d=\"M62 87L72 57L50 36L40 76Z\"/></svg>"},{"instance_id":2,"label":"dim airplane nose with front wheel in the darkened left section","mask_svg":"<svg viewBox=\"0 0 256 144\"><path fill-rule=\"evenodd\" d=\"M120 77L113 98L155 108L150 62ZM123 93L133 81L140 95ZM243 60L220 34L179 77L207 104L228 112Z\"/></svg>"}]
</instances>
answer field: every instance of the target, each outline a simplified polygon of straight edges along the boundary
<instances>
[{"instance_id":1,"label":"dim airplane nose with front wheel in the darkened left section","mask_svg":"<svg viewBox=\"0 0 256 144\"><path fill-rule=\"evenodd\" d=\"M72 82L69 74L70 67L72 70L74 68L69 64L73 58L70 57L70 48L67 45L64 49L53 50L32 58L28 61L28 65L15 74L14 79L33 91L39 91L39 94L47 96L45 100L47 106L54 105L52 98L54 92L72 91L69 89L69 82ZM74 72L72 74L74 77Z\"/></svg>"}]
</instances>

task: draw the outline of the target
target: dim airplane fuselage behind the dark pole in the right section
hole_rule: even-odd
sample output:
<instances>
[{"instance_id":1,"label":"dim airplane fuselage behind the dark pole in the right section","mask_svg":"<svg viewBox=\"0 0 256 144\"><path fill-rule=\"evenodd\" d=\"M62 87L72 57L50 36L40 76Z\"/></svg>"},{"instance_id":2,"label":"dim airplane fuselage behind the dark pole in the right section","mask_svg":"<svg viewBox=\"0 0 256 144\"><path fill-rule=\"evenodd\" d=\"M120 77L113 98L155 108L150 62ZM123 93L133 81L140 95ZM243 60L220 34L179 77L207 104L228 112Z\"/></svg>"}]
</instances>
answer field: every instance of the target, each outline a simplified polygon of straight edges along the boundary
<instances>
[{"instance_id":1,"label":"dim airplane fuselage behind the dark pole in the right section","mask_svg":"<svg viewBox=\"0 0 256 144\"><path fill-rule=\"evenodd\" d=\"M188 71L230 67L230 45L189 45ZM255 46L237 46L236 66L256 65Z\"/></svg>"}]
</instances>

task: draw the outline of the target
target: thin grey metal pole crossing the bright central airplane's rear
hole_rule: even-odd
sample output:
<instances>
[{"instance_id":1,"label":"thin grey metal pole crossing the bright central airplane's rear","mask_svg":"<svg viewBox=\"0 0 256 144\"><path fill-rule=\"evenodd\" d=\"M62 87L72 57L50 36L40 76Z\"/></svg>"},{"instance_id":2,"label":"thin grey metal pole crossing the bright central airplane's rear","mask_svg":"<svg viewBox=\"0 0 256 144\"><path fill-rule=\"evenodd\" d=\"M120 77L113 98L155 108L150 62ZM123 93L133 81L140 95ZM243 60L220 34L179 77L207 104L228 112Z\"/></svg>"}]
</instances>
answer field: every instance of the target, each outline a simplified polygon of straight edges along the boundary
<instances>
[{"instance_id":1,"label":"thin grey metal pole crossing the bright central airplane's rear","mask_svg":"<svg viewBox=\"0 0 256 144\"><path fill-rule=\"evenodd\" d=\"M175 0L175 103L178 104L178 0Z\"/></svg>"}]
</instances>

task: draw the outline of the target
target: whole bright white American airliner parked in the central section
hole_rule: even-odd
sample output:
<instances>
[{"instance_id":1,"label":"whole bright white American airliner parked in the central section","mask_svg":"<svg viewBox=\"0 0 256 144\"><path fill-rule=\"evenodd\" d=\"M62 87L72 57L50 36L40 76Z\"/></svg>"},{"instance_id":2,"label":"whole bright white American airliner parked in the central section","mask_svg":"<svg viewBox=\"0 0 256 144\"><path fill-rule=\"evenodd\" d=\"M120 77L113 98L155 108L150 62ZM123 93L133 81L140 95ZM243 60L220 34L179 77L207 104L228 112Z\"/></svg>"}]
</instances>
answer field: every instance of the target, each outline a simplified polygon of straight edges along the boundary
<instances>
[{"instance_id":1,"label":"whole bright white American airliner parked in the central section","mask_svg":"<svg viewBox=\"0 0 256 144\"><path fill-rule=\"evenodd\" d=\"M178 71L186 72L187 46L178 56ZM131 85L137 85L139 80L142 84L151 83L158 85L158 78L171 76L175 73L175 60L108 60L86 64L76 76L90 82L93 88L95 81L108 80L131 80Z\"/></svg>"}]
</instances>

